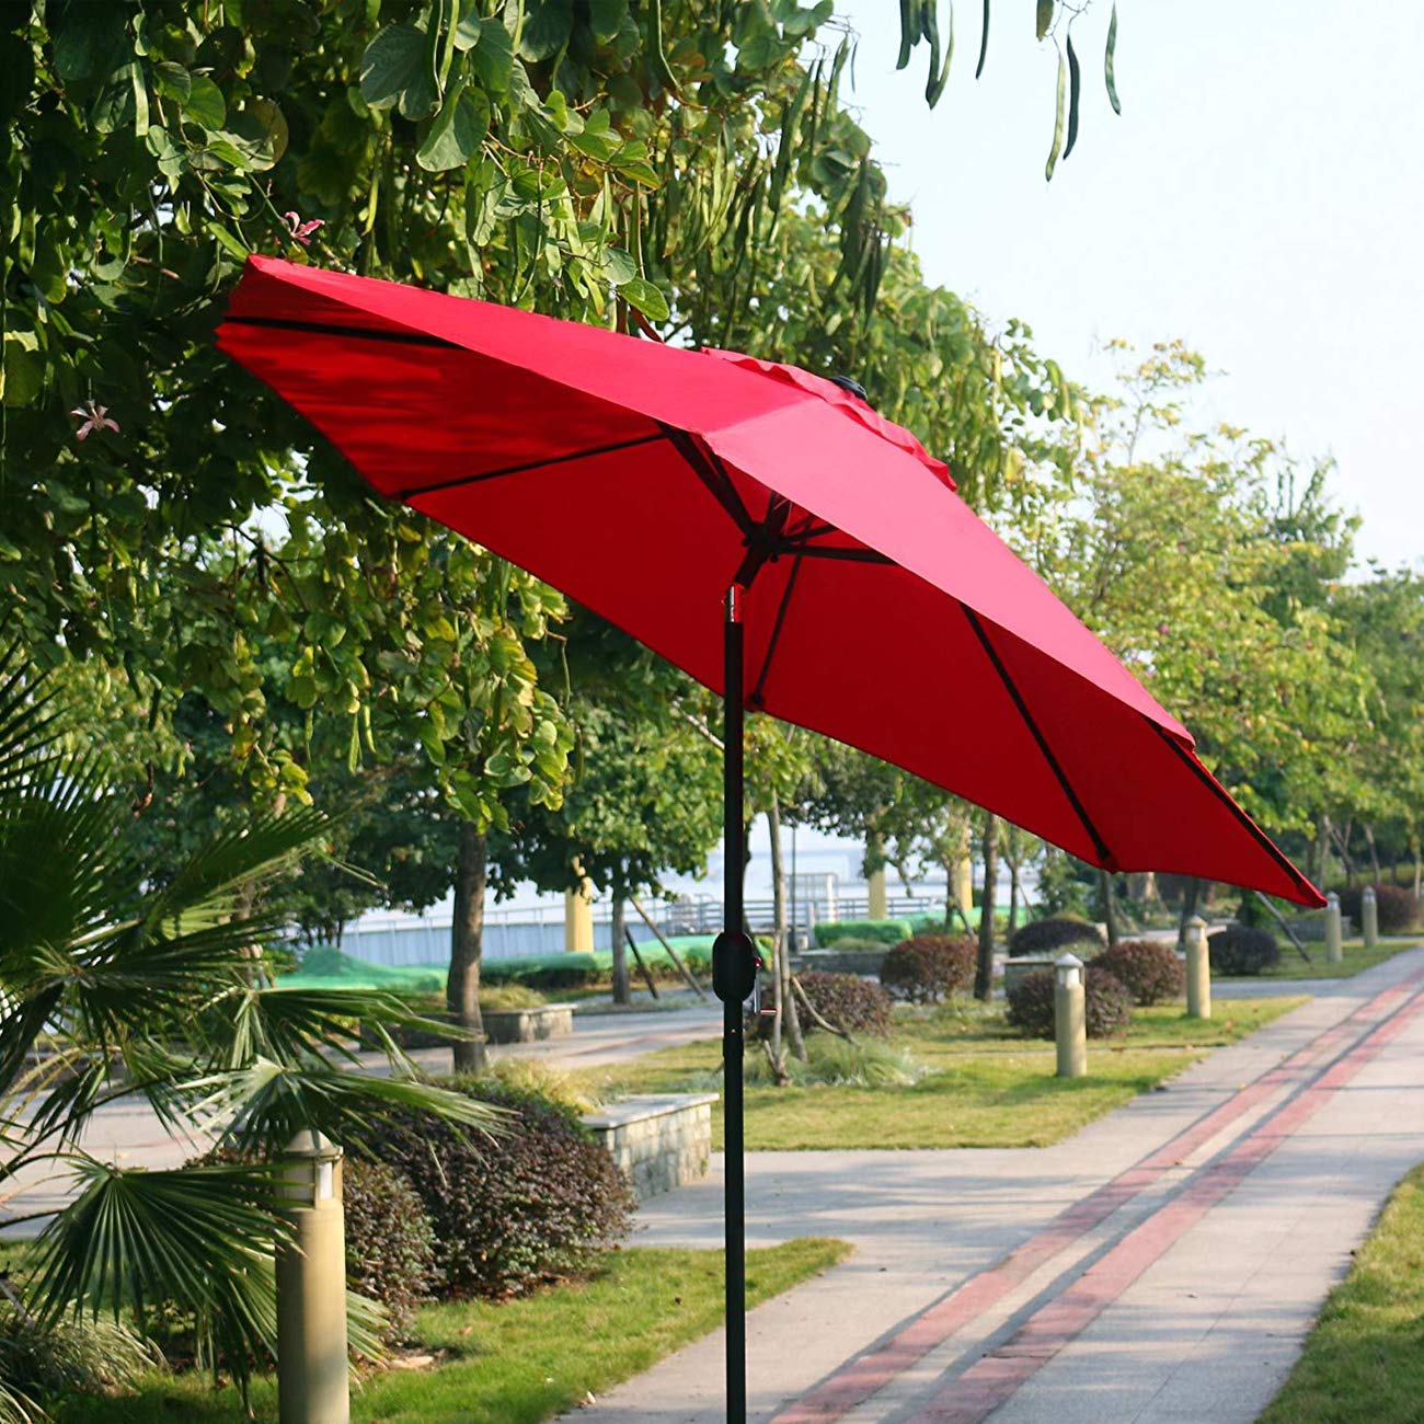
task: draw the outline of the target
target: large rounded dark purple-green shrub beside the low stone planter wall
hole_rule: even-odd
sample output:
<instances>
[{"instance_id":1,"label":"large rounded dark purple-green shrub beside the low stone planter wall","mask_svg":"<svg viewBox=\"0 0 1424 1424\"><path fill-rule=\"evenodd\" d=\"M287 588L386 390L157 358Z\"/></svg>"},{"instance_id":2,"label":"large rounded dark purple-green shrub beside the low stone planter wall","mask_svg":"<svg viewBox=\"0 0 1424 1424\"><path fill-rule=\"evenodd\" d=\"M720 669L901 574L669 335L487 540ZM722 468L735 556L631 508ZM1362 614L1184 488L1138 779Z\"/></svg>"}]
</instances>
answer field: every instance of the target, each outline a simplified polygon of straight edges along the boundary
<instances>
[{"instance_id":1,"label":"large rounded dark purple-green shrub beside the low stone planter wall","mask_svg":"<svg viewBox=\"0 0 1424 1424\"><path fill-rule=\"evenodd\" d=\"M523 1294L627 1236L632 1189L572 1108L493 1078L447 1085L508 1109L506 1129L491 1139L422 1114L373 1134L424 1203L444 1293Z\"/></svg>"}]
</instances>

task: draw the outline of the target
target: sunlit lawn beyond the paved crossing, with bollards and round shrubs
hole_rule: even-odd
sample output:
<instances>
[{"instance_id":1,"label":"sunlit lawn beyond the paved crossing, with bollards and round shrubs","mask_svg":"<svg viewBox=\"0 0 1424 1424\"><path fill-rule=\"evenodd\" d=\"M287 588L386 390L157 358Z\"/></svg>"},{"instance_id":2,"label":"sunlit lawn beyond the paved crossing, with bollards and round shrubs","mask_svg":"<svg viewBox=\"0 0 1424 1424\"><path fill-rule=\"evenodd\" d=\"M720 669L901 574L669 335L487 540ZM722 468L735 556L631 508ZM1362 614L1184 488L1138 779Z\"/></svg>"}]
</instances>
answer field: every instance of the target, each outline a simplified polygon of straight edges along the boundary
<instances>
[{"instance_id":1,"label":"sunlit lawn beyond the paved crossing, with bollards and round shrubs","mask_svg":"<svg viewBox=\"0 0 1424 1424\"><path fill-rule=\"evenodd\" d=\"M933 1014L897 1011L893 1042L934 1069L914 1087L746 1087L746 1145L752 1151L816 1148L1027 1148L1071 1136L1141 1092L1235 1042L1303 998L1219 1000L1206 1024L1180 1004L1139 1008L1116 1040L1089 1040L1088 1077L1054 1077L1054 1047L1025 1040L1001 1008L980 1005ZM712 1089L721 1042L705 1040L648 1054L635 1062L571 1074L608 1099L625 1092ZM721 1146L722 1121L712 1131Z\"/></svg>"}]
</instances>

